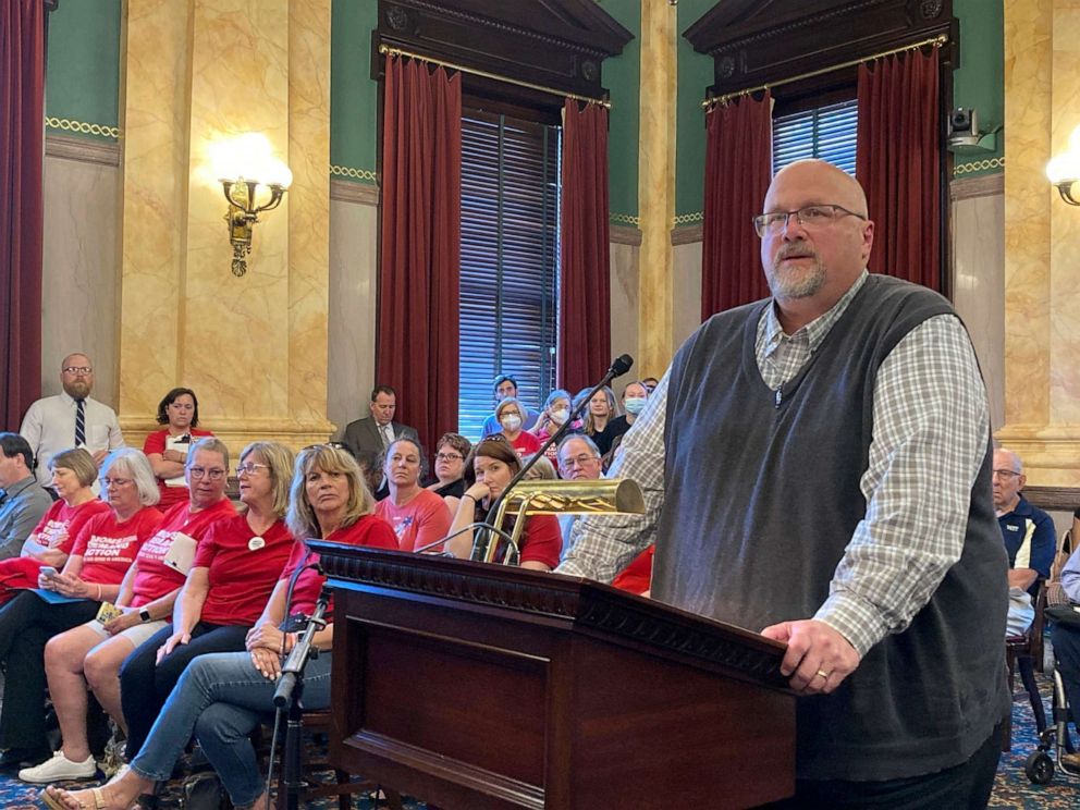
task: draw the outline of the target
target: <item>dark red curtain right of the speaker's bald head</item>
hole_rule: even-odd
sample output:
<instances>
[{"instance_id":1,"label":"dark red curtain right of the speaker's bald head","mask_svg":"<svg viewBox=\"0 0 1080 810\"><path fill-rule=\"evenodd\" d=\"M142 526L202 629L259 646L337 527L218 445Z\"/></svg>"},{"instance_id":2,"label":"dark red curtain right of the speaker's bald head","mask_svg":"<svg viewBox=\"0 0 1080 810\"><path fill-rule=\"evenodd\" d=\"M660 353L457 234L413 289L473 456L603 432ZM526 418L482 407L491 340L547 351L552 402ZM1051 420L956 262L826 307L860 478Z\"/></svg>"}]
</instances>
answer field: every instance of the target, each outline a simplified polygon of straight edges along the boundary
<instances>
[{"instance_id":1,"label":"dark red curtain right of the speaker's bald head","mask_svg":"<svg viewBox=\"0 0 1080 810\"><path fill-rule=\"evenodd\" d=\"M874 221L870 269L942 289L937 49L859 66L856 176Z\"/></svg>"}]
</instances>

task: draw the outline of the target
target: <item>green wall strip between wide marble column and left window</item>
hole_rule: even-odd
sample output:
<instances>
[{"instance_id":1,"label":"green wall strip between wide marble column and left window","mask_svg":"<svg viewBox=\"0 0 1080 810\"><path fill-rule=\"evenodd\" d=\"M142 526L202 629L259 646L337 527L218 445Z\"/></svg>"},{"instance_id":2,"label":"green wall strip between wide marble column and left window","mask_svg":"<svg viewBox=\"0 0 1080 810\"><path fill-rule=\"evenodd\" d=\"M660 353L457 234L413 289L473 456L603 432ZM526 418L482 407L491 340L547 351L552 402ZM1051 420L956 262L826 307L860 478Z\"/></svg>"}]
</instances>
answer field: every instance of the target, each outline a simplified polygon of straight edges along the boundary
<instances>
[{"instance_id":1,"label":"green wall strip between wide marble column and left window","mask_svg":"<svg viewBox=\"0 0 1080 810\"><path fill-rule=\"evenodd\" d=\"M371 78L377 0L333 0L330 34L330 163L345 180L375 183L379 85Z\"/></svg>"}]
</instances>

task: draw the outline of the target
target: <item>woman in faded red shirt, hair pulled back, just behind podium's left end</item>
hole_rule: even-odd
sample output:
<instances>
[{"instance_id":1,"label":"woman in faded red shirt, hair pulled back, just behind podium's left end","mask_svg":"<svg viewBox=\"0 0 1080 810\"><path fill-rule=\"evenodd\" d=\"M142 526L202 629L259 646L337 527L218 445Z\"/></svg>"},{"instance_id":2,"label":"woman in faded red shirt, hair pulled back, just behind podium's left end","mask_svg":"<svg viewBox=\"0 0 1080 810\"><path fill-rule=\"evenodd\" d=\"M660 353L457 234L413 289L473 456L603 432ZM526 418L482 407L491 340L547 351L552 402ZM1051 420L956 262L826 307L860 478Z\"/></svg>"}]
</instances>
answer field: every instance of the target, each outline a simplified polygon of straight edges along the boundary
<instances>
[{"instance_id":1,"label":"woman in faded red shirt, hair pulled back, just behind podium's left end","mask_svg":"<svg viewBox=\"0 0 1080 810\"><path fill-rule=\"evenodd\" d=\"M383 472L390 495L379 501L375 514L390 524L402 551L418 551L445 537L450 511L439 495L420 486L427 461L412 439L398 439L386 450ZM437 548L428 551L437 551Z\"/></svg>"}]
</instances>

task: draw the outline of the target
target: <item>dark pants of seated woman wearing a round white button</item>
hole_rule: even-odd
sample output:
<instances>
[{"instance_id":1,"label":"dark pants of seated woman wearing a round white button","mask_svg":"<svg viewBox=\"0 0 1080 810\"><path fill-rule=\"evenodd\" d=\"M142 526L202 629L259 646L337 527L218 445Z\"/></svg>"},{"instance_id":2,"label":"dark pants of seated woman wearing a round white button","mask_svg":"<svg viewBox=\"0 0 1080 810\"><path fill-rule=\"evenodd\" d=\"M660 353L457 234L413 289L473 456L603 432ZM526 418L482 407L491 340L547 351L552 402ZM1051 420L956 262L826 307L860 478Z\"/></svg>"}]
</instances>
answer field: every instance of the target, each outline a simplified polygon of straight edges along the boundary
<instances>
[{"instance_id":1,"label":"dark pants of seated woman wearing a round white button","mask_svg":"<svg viewBox=\"0 0 1080 810\"><path fill-rule=\"evenodd\" d=\"M161 707L191 660L207 652L242 652L248 626L216 625L199 622L192 630L192 640L177 645L172 653L157 663L158 648L172 635L172 625L162 627L148 638L120 667L120 703L127 723L126 756L131 761L150 733Z\"/></svg>"}]
</instances>

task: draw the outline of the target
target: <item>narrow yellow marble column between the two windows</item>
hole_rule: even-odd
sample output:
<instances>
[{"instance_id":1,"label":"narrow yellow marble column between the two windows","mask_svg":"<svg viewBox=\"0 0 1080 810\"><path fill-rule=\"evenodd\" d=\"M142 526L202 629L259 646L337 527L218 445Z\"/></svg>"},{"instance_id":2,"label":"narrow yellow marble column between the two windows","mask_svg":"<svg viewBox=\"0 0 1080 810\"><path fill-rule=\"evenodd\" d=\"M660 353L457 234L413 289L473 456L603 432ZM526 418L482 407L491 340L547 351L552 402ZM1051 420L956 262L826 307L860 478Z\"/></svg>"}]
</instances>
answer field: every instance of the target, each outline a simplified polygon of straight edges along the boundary
<instances>
[{"instance_id":1,"label":"narrow yellow marble column between the two windows","mask_svg":"<svg viewBox=\"0 0 1080 810\"><path fill-rule=\"evenodd\" d=\"M648 369L642 375L660 375L675 351L671 229L675 220L676 14L676 7L667 2L641 3L637 366Z\"/></svg>"}]
</instances>

